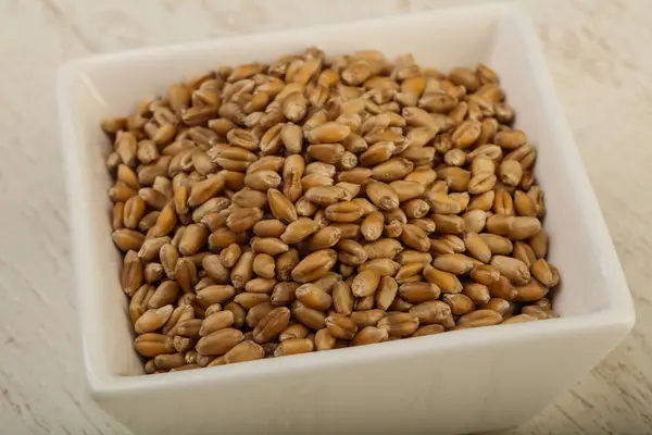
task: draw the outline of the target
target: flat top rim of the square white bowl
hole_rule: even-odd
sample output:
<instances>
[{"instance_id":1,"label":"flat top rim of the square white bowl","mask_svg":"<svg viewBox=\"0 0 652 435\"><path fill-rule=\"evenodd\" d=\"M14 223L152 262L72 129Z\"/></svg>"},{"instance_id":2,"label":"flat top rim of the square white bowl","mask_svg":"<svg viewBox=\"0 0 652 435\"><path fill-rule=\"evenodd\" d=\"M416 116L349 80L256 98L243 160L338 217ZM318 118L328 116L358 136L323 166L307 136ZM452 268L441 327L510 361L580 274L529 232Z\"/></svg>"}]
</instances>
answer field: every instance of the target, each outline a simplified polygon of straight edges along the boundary
<instances>
[{"instance_id":1,"label":"flat top rim of the square white bowl","mask_svg":"<svg viewBox=\"0 0 652 435\"><path fill-rule=\"evenodd\" d=\"M456 331L454 334L438 334L437 338L432 336L415 337L409 340L394 340L375 346L359 347L356 349L346 348L337 349L331 352L313 352L306 355L292 356L285 359L266 359L259 361L250 361L241 364L233 364L220 366L220 370L201 370L201 371L183 371L175 373L166 373L164 376L145 376L145 375L116 375L99 373L93 365L93 358L89 352L95 350L95 344L91 344L93 337L88 327L85 311L79 310L79 324L82 330L82 340L84 349L84 365L87 378L87 384L90 393L95 397L111 398L120 397L130 390L148 390L162 388L178 388L188 386L206 386L212 383L222 382L238 382L239 380L252 380L258 376L275 376L293 373L300 370L314 370L323 366L338 366L348 364L359 364L371 360L385 360L394 358L404 358L406 356L416 356L419 353L440 352L460 347L485 346L487 341L492 344L517 343L531 338L532 335L538 337L561 337L578 334L595 334L601 331L617 331L624 337L634 326L635 311L631 295L629 293L624 272L620 268L614 245L609 235L606 224L602 212L598 206L594 191L589 183L585 166L581 162L577 145L570 134L566 123L564 112L557 100L554 91L554 86L548 66L543 59L542 50L535 33L534 25L523 8L516 3L485 3L465 7L451 7L446 9L434 9L429 11L408 14L397 14L391 16L380 16L366 20L358 20L343 23L322 24L311 26L311 30L333 30L337 28L349 28L360 23L374 23L387 21L410 21L415 16L434 16L446 13L460 13L465 11L468 13L481 13L482 11L499 10L504 17L512 18L518 26L518 32L522 34L525 44L530 47L529 61L532 63L532 71L536 75L536 82L542 91L548 96L542 104L550 113L556 112L557 115L552 117L552 123L555 124L557 133L562 135L563 140L568 145L565 147L565 158L570 164L577 169L574 174L577 189L584 195L578 200L580 207L587 209L593 216L594 222L590 225L590 235L595 239L597 246L600 248L601 269L604 273L604 279L607 281L605 286L611 288L609 304L599 311L578 314L568 318L560 318L547 322L532 322L512 324L505 331L504 327L487 327ZM501 15L502 16L502 15ZM103 63L124 62L129 59L135 59L142 55L171 55L174 57L188 49L206 49L228 42L246 42L255 41L267 35L291 36L301 33L305 28L291 28L287 30L254 33L247 35L235 35L221 38L206 39L201 41L175 44L158 47L146 47L135 50L127 50L116 53L98 54L84 59L76 59L61 65L57 77L57 94L58 94L58 110L61 124L61 136L64 144L73 144L63 146L64 166L66 173L66 191L70 210L83 209L86 206L83 203L84 183L83 175L79 171L77 149L85 147L83 141L77 137L76 133L76 111L75 104L71 98L71 89L74 83L83 77L83 72L89 66L101 66ZM80 268L87 259L84 257L86 252L86 241L82 234L89 232L88 221L84 221L84 213L71 213L71 231L72 251L75 264L75 287L78 307L83 307L88 302L88 296L82 291L85 287L83 284L88 279ZM348 353L347 353L348 352ZM280 365L279 365L280 364Z\"/></svg>"}]
</instances>

